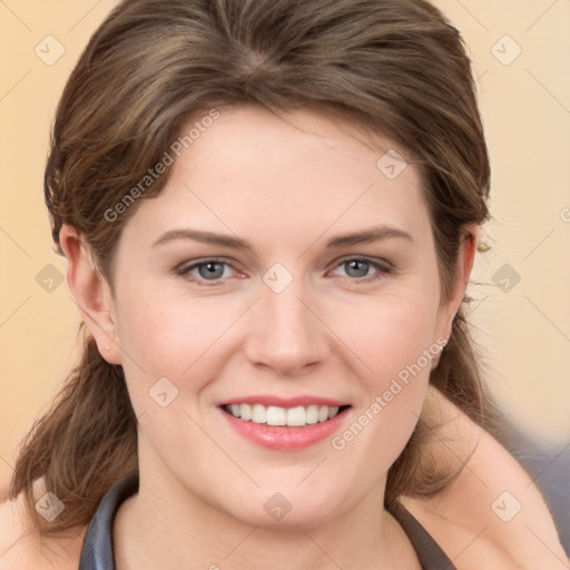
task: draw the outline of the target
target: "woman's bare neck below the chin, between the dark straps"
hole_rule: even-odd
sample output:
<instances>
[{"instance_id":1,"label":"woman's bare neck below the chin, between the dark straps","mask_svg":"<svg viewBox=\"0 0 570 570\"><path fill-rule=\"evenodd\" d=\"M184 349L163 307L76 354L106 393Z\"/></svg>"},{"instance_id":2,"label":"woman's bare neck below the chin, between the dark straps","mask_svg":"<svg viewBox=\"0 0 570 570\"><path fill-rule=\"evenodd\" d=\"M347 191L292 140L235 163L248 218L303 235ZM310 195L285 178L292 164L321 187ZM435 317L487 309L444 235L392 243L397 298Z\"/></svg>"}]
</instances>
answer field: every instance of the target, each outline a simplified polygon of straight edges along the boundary
<instances>
[{"instance_id":1,"label":"woman's bare neck below the chin, between the dark straps","mask_svg":"<svg viewBox=\"0 0 570 570\"><path fill-rule=\"evenodd\" d=\"M384 484L322 524L276 529L247 524L141 470L138 494L115 519L116 570L419 569L410 541L383 509Z\"/></svg>"}]
</instances>

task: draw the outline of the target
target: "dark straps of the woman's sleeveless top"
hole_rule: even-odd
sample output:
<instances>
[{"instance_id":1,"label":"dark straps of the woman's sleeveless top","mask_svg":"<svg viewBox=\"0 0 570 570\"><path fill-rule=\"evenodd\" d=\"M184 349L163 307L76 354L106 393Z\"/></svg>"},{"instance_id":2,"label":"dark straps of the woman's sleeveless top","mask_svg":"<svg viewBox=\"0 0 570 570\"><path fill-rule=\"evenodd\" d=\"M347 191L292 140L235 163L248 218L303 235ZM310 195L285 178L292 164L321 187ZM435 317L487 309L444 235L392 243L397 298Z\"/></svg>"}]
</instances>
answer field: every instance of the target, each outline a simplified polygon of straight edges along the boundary
<instances>
[{"instance_id":1,"label":"dark straps of the woman's sleeveless top","mask_svg":"<svg viewBox=\"0 0 570 570\"><path fill-rule=\"evenodd\" d=\"M112 521L120 504L137 492L138 474L119 479L107 491L87 528L78 570L115 570ZM391 512L412 542L423 570L455 570L450 559L410 512L401 505Z\"/></svg>"}]
</instances>

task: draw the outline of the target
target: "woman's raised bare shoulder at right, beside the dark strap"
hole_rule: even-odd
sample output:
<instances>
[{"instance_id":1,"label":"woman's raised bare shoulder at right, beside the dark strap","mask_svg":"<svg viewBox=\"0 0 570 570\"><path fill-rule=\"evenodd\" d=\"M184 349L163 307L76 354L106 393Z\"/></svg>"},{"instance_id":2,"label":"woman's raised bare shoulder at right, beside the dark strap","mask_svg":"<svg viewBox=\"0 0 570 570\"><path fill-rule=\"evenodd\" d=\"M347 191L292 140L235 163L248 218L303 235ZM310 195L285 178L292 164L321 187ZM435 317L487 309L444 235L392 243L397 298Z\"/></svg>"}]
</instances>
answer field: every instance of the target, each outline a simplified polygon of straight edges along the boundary
<instances>
[{"instance_id":1,"label":"woman's raised bare shoulder at right, beside the dark strap","mask_svg":"<svg viewBox=\"0 0 570 570\"><path fill-rule=\"evenodd\" d=\"M552 515L520 463L438 391L445 424L433 443L438 464L464 468L430 499L402 498L459 570L569 568Z\"/></svg>"}]
</instances>

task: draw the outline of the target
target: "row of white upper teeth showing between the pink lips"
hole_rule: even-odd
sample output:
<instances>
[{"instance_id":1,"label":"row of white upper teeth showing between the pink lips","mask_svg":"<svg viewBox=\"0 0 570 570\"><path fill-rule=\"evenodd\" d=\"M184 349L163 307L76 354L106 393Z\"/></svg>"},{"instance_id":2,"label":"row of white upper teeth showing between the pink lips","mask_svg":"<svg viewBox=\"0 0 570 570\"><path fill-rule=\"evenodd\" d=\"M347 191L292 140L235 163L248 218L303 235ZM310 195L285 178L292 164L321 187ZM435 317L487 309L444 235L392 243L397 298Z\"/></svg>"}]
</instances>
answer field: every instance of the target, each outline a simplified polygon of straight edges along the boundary
<instances>
[{"instance_id":1,"label":"row of white upper teeth showing between the pink lips","mask_svg":"<svg viewBox=\"0 0 570 570\"><path fill-rule=\"evenodd\" d=\"M288 425L302 428L318 422L332 420L338 413L338 406L308 405L296 407L279 407L263 404L230 404L225 406L234 417L267 425Z\"/></svg>"}]
</instances>

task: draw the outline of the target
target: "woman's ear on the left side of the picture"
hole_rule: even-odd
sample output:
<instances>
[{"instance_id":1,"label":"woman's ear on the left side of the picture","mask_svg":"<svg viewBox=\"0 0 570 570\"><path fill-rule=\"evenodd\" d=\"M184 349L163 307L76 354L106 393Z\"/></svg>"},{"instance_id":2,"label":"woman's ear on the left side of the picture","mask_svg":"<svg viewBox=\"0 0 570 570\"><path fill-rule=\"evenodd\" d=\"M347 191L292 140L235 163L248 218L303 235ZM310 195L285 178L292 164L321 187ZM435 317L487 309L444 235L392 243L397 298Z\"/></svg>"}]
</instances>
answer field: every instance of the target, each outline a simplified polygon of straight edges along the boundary
<instances>
[{"instance_id":1,"label":"woman's ear on the left side of the picture","mask_svg":"<svg viewBox=\"0 0 570 570\"><path fill-rule=\"evenodd\" d=\"M121 364L115 302L107 279L100 274L85 236L68 224L59 232L67 258L67 283L85 324L109 364Z\"/></svg>"}]
</instances>

